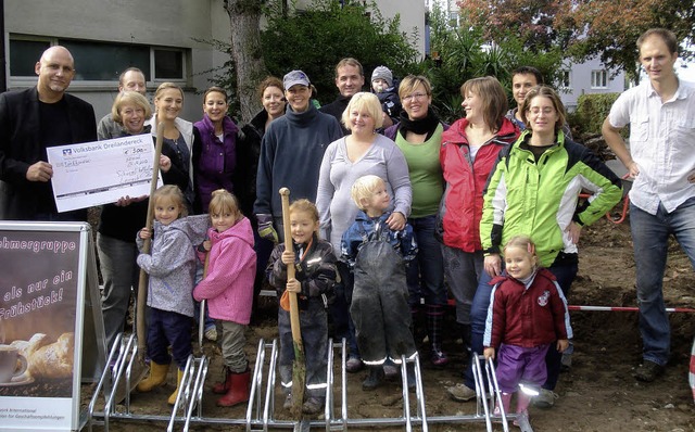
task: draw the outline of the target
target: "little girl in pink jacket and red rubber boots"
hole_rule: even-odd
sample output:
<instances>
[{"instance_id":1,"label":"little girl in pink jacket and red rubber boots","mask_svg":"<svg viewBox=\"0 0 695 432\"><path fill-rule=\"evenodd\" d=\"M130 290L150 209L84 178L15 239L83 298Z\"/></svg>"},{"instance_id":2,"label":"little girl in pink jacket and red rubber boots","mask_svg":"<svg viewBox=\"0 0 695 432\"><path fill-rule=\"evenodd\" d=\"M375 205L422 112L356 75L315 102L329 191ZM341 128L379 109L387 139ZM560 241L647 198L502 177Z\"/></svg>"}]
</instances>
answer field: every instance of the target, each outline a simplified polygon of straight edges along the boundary
<instances>
[{"instance_id":1,"label":"little girl in pink jacket and red rubber boots","mask_svg":"<svg viewBox=\"0 0 695 432\"><path fill-rule=\"evenodd\" d=\"M207 276L193 290L197 301L207 300L212 318L222 322L222 354L225 378L213 386L224 394L217 406L235 406L249 401L249 360L244 353L244 331L251 319L256 253L251 223L239 211L235 195L224 189L210 201L212 228L203 243L208 251Z\"/></svg>"}]
</instances>

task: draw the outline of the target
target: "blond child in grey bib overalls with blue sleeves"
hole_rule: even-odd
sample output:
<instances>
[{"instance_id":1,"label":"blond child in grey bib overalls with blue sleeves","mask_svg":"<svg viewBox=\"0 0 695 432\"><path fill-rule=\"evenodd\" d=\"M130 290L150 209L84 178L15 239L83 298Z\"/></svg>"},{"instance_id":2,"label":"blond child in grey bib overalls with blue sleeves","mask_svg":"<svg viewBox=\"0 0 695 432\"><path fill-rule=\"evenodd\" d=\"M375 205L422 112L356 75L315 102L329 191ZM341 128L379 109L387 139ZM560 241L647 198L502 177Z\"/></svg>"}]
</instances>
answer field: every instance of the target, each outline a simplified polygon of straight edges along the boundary
<instances>
[{"instance_id":1,"label":"blond child in grey bib overalls with blue sleeves","mask_svg":"<svg viewBox=\"0 0 695 432\"><path fill-rule=\"evenodd\" d=\"M401 364L401 356L416 354L410 332L410 309L405 264L417 253L413 229L393 231L386 220L390 213L386 185L377 176L355 181L352 196L361 212L342 238L342 259L353 269L355 283L350 314L355 323L357 346L369 368L364 390L383 381L383 364ZM408 368L408 386L414 386Z\"/></svg>"}]
</instances>

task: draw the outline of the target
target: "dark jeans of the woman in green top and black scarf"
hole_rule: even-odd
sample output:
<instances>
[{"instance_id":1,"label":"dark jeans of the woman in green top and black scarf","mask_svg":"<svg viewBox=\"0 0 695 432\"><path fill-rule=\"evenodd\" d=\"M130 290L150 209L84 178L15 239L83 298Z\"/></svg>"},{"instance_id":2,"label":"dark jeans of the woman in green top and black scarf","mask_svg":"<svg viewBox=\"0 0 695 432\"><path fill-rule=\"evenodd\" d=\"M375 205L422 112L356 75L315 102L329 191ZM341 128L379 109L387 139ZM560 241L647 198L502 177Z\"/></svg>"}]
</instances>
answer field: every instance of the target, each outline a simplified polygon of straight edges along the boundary
<instances>
[{"instance_id":1,"label":"dark jeans of the woman in green top and black scarf","mask_svg":"<svg viewBox=\"0 0 695 432\"><path fill-rule=\"evenodd\" d=\"M444 288L444 258L441 244L434 238L437 216L409 218L413 233L417 241L417 256L406 269L410 307L420 304L420 297L426 305L446 305L447 294Z\"/></svg>"}]
</instances>

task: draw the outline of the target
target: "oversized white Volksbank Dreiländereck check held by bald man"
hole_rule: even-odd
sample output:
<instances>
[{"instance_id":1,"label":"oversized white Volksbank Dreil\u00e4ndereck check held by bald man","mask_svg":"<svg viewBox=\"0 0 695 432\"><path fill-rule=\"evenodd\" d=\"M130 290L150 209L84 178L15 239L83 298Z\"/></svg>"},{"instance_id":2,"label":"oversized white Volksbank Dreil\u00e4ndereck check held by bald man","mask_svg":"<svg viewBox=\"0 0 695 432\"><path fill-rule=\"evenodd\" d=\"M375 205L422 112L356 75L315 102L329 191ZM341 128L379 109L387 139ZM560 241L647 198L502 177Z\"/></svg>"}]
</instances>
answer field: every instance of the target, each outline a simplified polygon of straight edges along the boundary
<instances>
[{"instance_id":1,"label":"oversized white Volksbank Dreil\u00e4ndereck check held by bald man","mask_svg":"<svg viewBox=\"0 0 695 432\"><path fill-rule=\"evenodd\" d=\"M51 147L53 196L59 212L150 194L154 145L149 134ZM157 186L162 185L161 175Z\"/></svg>"}]
</instances>

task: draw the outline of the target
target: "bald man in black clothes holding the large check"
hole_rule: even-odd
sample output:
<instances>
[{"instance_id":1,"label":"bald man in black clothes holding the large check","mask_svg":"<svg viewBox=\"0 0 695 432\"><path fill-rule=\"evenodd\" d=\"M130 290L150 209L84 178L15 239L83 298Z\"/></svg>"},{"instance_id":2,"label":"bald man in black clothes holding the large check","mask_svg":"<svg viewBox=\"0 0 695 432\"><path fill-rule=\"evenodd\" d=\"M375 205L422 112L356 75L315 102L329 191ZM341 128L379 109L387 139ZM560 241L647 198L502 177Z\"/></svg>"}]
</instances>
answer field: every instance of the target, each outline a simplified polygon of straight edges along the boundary
<instances>
[{"instance_id":1,"label":"bald man in black clothes holding the large check","mask_svg":"<svg viewBox=\"0 0 695 432\"><path fill-rule=\"evenodd\" d=\"M67 49L43 51L38 82L0 94L0 219L87 220L87 209L58 213L46 149L97 140L92 106L65 90L75 77Z\"/></svg>"}]
</instances>

